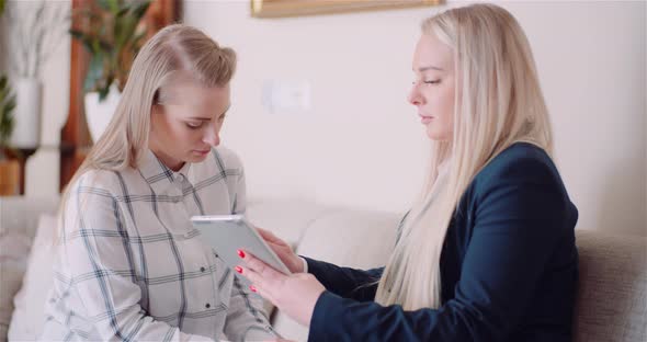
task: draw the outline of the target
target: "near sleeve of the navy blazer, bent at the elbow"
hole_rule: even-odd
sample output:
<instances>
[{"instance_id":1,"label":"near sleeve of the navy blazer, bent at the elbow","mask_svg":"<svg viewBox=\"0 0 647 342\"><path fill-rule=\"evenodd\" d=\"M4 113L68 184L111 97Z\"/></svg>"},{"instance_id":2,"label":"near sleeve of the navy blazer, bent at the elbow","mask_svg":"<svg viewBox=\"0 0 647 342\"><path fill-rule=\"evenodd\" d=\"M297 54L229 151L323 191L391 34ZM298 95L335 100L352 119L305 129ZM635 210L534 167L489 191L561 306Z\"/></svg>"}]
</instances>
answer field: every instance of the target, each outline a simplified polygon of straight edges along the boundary
<instances>
[{"instance_id":1,"label":"near sleeve of the navy blazer, bent at the elbow","mask_svg":"<svg viewBox=\"0 0 647 342\"><path fill-rule=\"evenodd\" d=\"M406 311L344 298L356 272L319 267L332 290L318 299L311 341L503 341L527 310L561 235L567 206L558 175L536 159L517 159L475 187L474 230L454 298L440 309ZM348 286L342 282L350 282Z\"/></svg>"}]
</instances>

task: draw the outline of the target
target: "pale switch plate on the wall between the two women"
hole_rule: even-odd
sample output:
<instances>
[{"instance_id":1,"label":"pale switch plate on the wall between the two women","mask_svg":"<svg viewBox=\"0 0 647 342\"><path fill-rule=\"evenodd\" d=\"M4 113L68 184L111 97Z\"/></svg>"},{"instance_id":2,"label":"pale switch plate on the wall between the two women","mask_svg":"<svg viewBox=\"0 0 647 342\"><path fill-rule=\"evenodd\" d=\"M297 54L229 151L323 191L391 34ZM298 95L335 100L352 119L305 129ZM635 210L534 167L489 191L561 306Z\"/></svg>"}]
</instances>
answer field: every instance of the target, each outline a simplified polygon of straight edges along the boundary
<instances>
[{"instance_id":1,"label":"pale switch plate on the wall between the two women","mask_svg":"<svg viewBox=\"0 0 647 342\"><path fill-rule=\"evenodd\" d=\"M270 113L310 110L310 83L306 80L269 80L263 86L263 106Z\"/></svg>"}]
</instances>

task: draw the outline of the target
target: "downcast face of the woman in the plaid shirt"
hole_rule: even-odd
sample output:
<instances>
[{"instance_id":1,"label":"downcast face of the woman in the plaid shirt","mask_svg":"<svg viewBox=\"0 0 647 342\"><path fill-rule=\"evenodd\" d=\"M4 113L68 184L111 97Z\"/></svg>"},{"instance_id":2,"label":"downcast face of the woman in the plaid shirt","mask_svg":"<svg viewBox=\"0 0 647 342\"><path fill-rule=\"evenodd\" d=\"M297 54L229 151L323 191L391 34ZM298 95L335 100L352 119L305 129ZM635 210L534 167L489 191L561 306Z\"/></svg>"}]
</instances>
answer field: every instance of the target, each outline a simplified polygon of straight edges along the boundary
<instances>
[{"instance_id":1,"label":"downcast face of the woman in the plaid shirt","mask_svg":"<svg viewBox=\"0 0 647 342\"><path fill-rule=\"evenodd\" d=\"M179 80L150 117L149 147L171 170L203 161L220 144L220 128L230 105L229 84L205 88Z\"/></svg>"}]
</instances>

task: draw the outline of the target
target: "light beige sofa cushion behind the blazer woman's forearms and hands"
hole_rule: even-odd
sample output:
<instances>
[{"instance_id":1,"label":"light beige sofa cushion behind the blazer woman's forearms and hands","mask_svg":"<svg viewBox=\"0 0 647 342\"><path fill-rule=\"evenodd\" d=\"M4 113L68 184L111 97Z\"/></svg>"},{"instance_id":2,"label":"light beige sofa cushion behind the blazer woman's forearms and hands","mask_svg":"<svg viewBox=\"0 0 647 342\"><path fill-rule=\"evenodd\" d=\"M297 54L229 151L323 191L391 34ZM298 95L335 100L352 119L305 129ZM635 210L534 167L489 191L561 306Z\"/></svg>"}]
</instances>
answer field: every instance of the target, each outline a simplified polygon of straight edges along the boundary
<instances>
[{"instance_id":1,"label":"light beige sofa cushion behind the blazer woman's forearms and hands","mask_svg":"<svg viewBox=\"0 0 647 342\"><path fill-rule=\"evenodd\" d=\"M395 246L401 215L331 208L307 228L297 253L341 266L373 269L384 266ZM273 324L284 338L306 341L308 329L280 311Z\"/></svg>"}]
</instances>

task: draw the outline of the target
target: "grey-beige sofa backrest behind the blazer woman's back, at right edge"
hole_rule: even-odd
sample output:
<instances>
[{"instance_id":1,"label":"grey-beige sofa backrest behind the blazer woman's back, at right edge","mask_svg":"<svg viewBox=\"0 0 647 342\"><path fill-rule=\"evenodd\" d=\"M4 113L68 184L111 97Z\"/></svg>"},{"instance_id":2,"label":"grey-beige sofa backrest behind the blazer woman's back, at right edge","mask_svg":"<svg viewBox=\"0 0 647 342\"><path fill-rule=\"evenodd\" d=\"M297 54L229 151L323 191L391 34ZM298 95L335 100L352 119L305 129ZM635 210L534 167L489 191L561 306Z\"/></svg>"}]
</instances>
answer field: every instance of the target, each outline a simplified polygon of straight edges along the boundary
<instances>
[{"instance_id":1,"label":"grey-beige sofa backrest behind the blazer woman's back, at right edge","mask_svg":"<svg viewBox=\"0 0 647 342\"><path fill-rule=\"evenodd\" d=\"M647 238L576 230L576 341L647 341Z\"/></svg>"}]
</instances>

